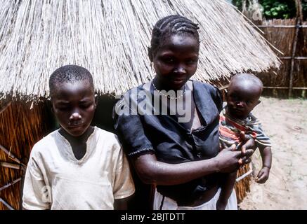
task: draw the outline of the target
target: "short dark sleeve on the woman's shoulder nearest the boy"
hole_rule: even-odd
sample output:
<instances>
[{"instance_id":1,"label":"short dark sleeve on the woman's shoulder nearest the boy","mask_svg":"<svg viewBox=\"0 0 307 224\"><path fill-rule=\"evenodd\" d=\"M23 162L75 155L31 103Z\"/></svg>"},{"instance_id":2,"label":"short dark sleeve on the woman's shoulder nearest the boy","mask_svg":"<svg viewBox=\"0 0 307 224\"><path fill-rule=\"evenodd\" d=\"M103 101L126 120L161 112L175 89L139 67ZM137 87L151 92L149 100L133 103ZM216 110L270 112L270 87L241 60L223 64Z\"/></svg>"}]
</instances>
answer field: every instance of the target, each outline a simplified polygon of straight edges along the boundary
<instances>
[{"instance_id":1,"label":"short dark sleeve on the woman's shoulder nearest the boy","mask_svg":"<svg viewBox=\"0 0 307 224\"><path fill-rule=\"evenodd\" d=\"M113 109L117 136L128 156L155 153L152 144L145 135L141 115L137 113L136 104L133 103L130 96L129 93L126 93Z\"/></svg>"}]
</instances>

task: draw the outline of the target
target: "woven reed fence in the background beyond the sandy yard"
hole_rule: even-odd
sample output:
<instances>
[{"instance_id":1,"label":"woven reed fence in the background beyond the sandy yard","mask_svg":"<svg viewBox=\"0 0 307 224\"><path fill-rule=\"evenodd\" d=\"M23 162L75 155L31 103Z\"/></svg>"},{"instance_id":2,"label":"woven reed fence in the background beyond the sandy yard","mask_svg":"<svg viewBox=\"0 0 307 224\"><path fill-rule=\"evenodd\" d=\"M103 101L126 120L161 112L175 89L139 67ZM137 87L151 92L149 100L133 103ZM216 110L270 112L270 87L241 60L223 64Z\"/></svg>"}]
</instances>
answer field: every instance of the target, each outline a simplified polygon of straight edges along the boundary
<instances>
[{"instance_id":1,"label":"woven reed fence in the background beyond the sandy yard","mask_svg":"<svg viewBox=\"0 0 307 224\"><path fill-rule=\"evenodd\" d=\"M264 95L273 97L288 97L290 85L290 69L292 50L295 41L296 20L268 20L262 23L260 27L270 43L284 53L277 53L282 59L282 65L279 70L270 70L266 73L259 73L259 78L266 87L263 91ZM292 27L289 27L292 26ZM292 79L292 96L307 97L307 22L302 23L299 29L296 52L294 57L294 69Z\"/></svg>"}]
</instances>

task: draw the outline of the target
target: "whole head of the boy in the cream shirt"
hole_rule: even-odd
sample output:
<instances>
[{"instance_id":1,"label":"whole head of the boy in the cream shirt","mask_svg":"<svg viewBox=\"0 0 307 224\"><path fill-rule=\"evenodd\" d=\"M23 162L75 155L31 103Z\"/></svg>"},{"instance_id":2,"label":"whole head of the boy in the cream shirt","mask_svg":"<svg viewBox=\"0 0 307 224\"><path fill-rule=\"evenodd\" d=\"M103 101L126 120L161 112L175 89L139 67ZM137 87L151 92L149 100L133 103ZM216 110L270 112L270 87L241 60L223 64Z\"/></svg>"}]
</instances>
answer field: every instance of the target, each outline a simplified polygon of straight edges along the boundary
<instances>
[{"instance_id":1,"label":"whole head of the boy in the cream shirt","mask_svg":"<svg viewBox=\"0 0 307 224\"><path fill-rule=\"evenodd\" d=\"M91 73L77 65L62 66L51 74L49 89L61 127L73 137L84 134L97 106Z\"/></svg>"}]
</instances>

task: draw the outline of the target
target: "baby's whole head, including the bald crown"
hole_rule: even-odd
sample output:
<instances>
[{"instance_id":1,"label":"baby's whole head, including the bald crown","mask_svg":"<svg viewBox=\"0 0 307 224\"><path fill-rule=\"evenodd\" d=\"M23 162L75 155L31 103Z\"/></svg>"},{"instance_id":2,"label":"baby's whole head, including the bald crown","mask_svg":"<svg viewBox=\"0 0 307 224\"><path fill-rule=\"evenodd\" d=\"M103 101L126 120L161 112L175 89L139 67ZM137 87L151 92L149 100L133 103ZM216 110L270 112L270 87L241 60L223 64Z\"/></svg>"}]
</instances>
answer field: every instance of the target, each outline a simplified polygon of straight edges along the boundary
<instances>
[{"instance_id":1,"label":"baby's whole head, including the bald crown","mask_svg":"<svg viewBox=\"0 0 307 224\"><path fill-rule=\"evenodd\" d=\"M251 73L240 73L230 80L227 92L227 110L233 118L245 119L260 101L263 84Z\"/></svg>"}]
</instances>

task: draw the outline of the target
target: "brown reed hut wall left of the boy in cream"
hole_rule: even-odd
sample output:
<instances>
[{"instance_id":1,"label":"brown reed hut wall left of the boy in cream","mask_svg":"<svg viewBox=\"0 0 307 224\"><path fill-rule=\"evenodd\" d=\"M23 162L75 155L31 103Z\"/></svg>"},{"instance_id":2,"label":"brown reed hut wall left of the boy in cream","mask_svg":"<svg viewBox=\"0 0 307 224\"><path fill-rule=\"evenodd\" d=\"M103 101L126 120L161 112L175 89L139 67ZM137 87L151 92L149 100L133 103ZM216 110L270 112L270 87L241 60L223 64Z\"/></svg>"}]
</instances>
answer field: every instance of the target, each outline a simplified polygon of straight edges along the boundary
<instances>
[{"instance_id":1,"label":"brown reed hut wall left of the boy in cream","mask_svg":"<svg viewBox=\"0 0 307 224\"><path fill-rule=\"evenodd\" d=\"M19 209L22 168L34 143L47 132L50 120L44 103L8 103L0 102L0 109L8 105L0 113L0 210L8 209L5 202Z\"/></svg>"}]
</instances>

